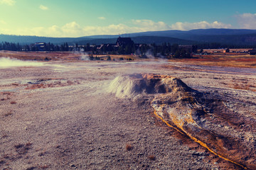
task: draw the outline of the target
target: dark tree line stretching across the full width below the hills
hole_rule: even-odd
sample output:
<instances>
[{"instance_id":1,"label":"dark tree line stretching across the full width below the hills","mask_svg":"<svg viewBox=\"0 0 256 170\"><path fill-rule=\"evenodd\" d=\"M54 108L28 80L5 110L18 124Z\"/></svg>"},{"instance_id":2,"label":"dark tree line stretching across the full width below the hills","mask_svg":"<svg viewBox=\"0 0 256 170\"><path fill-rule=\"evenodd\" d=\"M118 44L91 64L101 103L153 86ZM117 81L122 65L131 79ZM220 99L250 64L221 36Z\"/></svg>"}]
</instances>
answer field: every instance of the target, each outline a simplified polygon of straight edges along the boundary
<instances>
[{"instance_id":1,"label":"dark tree line stretching across the full width below the hills","mask_svg":"<svg viewBox=\"0 0 256 170\"><path fill-rule=\"evenodd\" d=\"M0 42L0 50L10 50L10 51L48 51L48 52L65 52L65 51L76 51L76 52L89 52L92 55L129 55L134 54L139 57L146 57L147 55L152 55L154 57L174 57L174 58L184 58L191 57L191 53L196 53L202 51L201 49L220 49L220 48L239 48L252 46L247 45L221 45L220 43L203 43L198 45L193 45L190 51L184 50L179 47L178 44L163 43L161 45L156 44L132 44L125 46L115 46L110 44L105 45L68 45L65 42L60 45L54 45L53 43L44 43L43 47L39 45L20 45L14 42Z\"/></svg>"}]
</instances>

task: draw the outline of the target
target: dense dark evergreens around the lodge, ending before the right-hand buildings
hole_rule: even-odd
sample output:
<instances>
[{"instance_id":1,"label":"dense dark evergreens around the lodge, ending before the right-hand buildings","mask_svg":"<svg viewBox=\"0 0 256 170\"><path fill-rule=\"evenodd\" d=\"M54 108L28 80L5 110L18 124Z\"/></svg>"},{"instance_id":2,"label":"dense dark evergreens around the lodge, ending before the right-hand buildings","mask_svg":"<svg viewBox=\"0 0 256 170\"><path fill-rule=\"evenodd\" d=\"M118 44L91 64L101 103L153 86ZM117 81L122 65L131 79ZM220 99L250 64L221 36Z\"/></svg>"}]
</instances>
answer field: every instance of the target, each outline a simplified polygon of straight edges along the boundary
<instances>
[{"instance_id":1,"label":"dense dark evergreens around the lodge, ending before the right-hand buildings","mask_svg":"<svg viewBox=\"0 0 256 170\"><path fill-rule=\"evenodd\" d=\"M0 42L0 50L10 50L10 51L26 51L26 52L36 52L36 51L48 51L48 52L55 52L55 51L76 51L76 52L90 52L93 55L128 55L128 54L135 54L135 55L146 55L146 53L151 53L152 55L158 56L169 56L175 55L178 57L178 54L186 53L185 51L179 50L178 44L171 45L170 43L163 43L162 45L126 45L124 47L119 46L115 47L114 45L103 45L99 48L100 45L90 45L87 43L86 45L68 45L68 42L65 42L61 45L54 45L53 43L43 43L43 47L40 45L31 44L31 45L20 45L19 43L14 42ZM195 46L196 47L196 46ZM196 52L196 48L193 52Z\"/></svg>"}]
</instances>

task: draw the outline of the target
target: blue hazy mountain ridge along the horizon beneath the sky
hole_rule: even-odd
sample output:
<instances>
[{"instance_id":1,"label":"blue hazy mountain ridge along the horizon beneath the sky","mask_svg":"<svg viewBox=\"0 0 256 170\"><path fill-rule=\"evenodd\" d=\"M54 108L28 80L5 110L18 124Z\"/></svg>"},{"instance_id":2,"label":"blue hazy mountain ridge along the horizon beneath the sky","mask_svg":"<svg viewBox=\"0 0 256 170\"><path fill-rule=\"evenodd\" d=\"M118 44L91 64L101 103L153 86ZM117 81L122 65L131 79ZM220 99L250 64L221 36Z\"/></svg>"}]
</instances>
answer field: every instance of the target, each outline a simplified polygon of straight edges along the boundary
<instances>
[{"instance_id":1,"label":"blue hazy mountain ridge along the horizon beneath the sky","mask_svg":"<svg viewBox=\"0 0 256 170\"><path fill-rule=\"evenodd\" d=\"M224 29L210 28L197 30L162 30L149 31L143 33L129 33L122 35L92 35L80 38L50 38L38 36L23 35L0 35L0 42L15 42L22 44L31 44L34 42L51 42L53 44L62 44L68 42L72 45L115 43L117 38L130 37L135 43L178 43L178 44L200 44L218 42L223 45L256 45L256 30L246 29Z\"/></svg>"}]
</instances>

